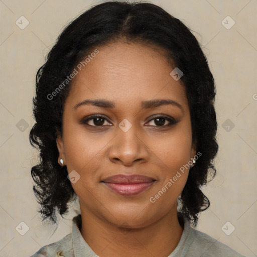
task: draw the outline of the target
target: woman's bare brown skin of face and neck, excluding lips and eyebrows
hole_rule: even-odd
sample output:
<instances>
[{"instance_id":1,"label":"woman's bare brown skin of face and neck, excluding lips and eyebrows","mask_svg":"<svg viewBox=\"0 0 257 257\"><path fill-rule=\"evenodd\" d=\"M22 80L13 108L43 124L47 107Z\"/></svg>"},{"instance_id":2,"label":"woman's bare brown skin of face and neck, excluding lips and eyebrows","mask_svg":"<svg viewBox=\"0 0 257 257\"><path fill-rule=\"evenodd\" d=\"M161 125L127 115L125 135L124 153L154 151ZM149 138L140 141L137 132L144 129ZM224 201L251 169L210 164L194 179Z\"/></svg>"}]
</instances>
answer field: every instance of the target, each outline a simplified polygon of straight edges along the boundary
<instances>
[{"instance_id":1,"label":"woman's bare brown skin of face and neck, excluding lips and eyebrows","mask_svg":"<svg viewBox=\"0 0 257 257\"><path fill-rule=\"evenodd\" d=\"M150 197L196 154L185 87L170 76L175 67L161 50L122 42L98 50L73 79L64 105L63 134L56 140L68 173L80 175L72 184L80 202L80 231L101 257L167 257L183 232L177 198L189 169L155 203ZM85 99L110 100L115 107L74 108ZM142 108L142 101L152 99L172 99L181 108ZM92 114L106 118L101 126L96 119L81 123ZM178 122L168 126L165 119L160 125L154 118L162 115ZM118 126L123 119L132 125L127 132ZM138 195L122 196L100 183L117 174L145 175L156 182Z\"/></svg>"}]
</instances>

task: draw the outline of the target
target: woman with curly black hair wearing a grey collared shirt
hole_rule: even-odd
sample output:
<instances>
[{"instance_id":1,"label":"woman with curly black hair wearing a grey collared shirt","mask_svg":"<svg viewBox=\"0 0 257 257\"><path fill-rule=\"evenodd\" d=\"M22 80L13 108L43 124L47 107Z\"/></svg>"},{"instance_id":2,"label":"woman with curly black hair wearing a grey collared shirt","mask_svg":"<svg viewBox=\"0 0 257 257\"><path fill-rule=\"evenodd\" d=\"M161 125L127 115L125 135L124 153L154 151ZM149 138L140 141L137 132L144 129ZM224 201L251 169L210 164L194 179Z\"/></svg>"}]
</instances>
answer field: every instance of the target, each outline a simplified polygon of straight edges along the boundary
<instances>
[{"instance_id":1,"label":"woman with curly black hair wearing a grey collared shirt","mask_svg":"<svg viewBox=\"0 0 257 257\"><path fill-rule=\"evenodd\" d=\"M106 2L39 69L32 168L43 219L79 199L72 233L33 256L242 256L193 229L215 175L215 85L190 30L160 7Z\"/></svg>"}]
</instances>

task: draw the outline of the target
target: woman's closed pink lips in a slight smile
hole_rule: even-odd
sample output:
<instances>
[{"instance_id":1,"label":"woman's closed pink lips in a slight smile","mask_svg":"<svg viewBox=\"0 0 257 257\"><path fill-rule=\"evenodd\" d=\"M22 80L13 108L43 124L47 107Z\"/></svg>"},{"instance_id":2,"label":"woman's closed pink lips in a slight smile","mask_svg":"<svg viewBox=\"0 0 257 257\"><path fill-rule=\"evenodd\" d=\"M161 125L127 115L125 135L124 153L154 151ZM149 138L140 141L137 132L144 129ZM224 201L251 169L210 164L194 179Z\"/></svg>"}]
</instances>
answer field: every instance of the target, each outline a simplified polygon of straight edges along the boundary
<instances>
[{"instance_id":1,"label":"woman's closed pink lips in a slight smile","mask_svg":"<svg viewBox=\"0 0 257 257\"><path fill-rule=\"evenodd\" d=\"M131 196L147 190L155 181L153 178L141 175L115 175L102 182L120 195Z\"/></svg>"}]
</instances>

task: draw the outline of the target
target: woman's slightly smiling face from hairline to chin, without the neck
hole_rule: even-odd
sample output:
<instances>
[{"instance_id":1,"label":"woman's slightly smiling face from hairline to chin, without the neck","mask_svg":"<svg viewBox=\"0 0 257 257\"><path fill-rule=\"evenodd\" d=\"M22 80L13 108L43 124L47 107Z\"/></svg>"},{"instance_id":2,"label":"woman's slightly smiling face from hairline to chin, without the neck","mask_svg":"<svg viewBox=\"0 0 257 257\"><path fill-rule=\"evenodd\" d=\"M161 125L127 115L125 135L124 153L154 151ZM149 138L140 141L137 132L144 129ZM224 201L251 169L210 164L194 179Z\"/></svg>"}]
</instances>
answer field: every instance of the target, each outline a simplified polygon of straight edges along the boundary
<instances>
[{"instance_id":1,"label":"woman's slightly smiling face from hairline to chin, without the neck","mask_svg":"<svg viewBox=\"0 0 257 257\"><path fill-rule=\"evenodd\" d=\"M144 227L177 214L190 171L177 172L196 154L185 87L150 47L113 43L98 50L73 79L59 158L75 182L81 214Z\"/></svg>"}]
</instances>

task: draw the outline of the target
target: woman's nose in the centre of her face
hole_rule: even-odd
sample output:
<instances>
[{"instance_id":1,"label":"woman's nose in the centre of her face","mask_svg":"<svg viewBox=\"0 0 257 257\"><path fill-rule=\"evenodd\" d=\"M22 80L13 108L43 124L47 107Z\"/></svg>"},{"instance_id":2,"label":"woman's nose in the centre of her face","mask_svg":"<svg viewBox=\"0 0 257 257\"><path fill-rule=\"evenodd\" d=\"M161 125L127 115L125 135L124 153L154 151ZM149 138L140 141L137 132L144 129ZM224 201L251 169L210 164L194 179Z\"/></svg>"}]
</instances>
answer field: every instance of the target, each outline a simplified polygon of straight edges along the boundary
<instances>
[{"instance_id":1,"label":"woman's nose in the centre of her face","mask_svg":"<svg viewBox=\"0 0 257 257\"><path fill-rule=\"evenodd\" d=\"M132 166L135 162L147 162L150 150L144 136L140 135L139 129L132 126L128 131L117 127L117 135L111 141L109 160L123 166Z\"/></svg>"}]
</instances>

